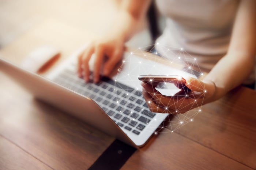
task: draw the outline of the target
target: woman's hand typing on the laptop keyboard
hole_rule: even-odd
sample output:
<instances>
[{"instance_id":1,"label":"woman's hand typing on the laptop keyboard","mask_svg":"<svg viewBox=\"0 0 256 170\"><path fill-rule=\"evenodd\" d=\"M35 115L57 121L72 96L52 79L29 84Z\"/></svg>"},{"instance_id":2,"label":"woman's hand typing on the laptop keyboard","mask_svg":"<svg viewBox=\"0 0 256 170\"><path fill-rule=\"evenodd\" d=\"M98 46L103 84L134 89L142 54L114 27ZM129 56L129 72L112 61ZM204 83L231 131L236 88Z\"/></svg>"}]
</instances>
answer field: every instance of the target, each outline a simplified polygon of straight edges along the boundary
<instances>
[{"instance_id":1,"label":"woman's hand typing on the laptop keyboard","mask_svg":"<svg viewBox=\"0 0 256 170\"><path fill-rule=\"evenodd\" d=\"M97 83L101 74L108 76L111 73L114 66L122 59L123 52L124 39L121 37L92 41L78 57L78 76L83 77L85 82L89 81L89 61L91 56L95 54L93 81ZM103 71L101 72L102 65Z\"/></svg>"}]
</instances>

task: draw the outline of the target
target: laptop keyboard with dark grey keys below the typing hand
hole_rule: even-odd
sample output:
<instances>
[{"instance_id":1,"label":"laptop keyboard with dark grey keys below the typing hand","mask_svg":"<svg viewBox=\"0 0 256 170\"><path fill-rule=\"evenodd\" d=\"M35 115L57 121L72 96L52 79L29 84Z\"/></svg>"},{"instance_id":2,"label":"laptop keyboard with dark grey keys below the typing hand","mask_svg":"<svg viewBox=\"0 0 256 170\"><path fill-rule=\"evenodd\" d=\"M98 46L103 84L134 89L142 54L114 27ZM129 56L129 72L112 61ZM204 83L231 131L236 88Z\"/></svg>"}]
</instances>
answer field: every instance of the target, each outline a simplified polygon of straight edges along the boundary
<instances>
[{"instance_id":1,"label":"laptop keyboard with dark grey keys below the typing hand","mask_svg":"<svg viewBox=\"0 0 256 170\"><path fill-rule=\"evenodd\" d=\"M103 77L101 82L85 83L74 69L66 68L54 82L93 99L121 128L139 135L154 118L148 110L142 92L112 79Z\"/></svg>"}]
</instances>

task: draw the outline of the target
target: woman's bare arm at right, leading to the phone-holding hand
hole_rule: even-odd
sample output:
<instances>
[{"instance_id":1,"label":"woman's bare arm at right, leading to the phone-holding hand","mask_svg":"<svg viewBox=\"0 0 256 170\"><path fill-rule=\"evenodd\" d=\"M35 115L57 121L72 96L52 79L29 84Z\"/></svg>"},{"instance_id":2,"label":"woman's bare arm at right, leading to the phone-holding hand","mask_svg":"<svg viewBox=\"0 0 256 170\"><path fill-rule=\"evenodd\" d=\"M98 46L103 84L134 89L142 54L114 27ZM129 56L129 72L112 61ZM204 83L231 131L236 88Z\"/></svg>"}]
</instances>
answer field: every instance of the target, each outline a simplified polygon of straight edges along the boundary
<instances>
[{"instance_id":1,"label":"woman's bare arm at right, leading to the phone-holding hand","mask_svg":"<svg viewBox=\"0 0 256 170\"><path fill-rule=\"evenodd\" d=\"M233 26L227 54L204 80L216 84L212 100L241 84L253 70L256 55L256 1L242 0Z\"/></svg>"}]
</instances>

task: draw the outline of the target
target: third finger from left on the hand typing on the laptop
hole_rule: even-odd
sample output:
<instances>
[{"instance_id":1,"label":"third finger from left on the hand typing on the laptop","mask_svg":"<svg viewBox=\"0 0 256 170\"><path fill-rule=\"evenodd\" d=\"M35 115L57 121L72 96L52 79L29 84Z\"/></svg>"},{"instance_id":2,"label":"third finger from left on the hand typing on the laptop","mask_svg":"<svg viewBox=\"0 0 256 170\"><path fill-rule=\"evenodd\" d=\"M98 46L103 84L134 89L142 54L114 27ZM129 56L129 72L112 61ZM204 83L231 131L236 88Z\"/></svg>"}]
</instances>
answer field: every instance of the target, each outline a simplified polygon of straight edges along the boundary
<instances>
[{"instance_id":1,"label":"third finger from left on the hand typing on the laptop","mask_svg":"<svg viewBox=\"0 0 256 170\"><path fill-rule=\"evenodd\" d=\"M99 81L99 75L101 71L103 57L104 57L104 47L103 45L99 45L95 50L95 62L94 62L94 69L93 69L94 83L97 83Z\"/></svg>"}]
</instances>

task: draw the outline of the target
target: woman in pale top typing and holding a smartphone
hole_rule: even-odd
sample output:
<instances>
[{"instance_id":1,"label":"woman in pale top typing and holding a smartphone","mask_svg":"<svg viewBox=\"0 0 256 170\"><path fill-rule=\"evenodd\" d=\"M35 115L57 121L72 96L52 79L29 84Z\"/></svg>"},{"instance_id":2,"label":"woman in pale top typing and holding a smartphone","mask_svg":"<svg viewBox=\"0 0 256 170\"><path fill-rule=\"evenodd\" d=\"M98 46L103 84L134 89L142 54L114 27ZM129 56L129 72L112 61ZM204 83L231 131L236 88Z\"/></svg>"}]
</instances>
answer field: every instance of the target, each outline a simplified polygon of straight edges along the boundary
<instances>
[{"instance_id":1,"label":"woman in pale top typing and holding a smartphone","mask_svg":"<svg viewBox=\"0 0 256 170\"><path fill-rule=\"evenodd\" d=\"M120 15L113 29L90 44L78 59L78 75L89 80L89 60L95 53L94 82L99 81L103 57L103 75L109 75L121 60L124 43L135 33L134 27L144 17L150 1L127 0L120 2ZM205 93L196 100L206 104L224 96L243 82L253 83L256 54L256 1L255 0L158 0L159 11L167 17L166 28L158 42L183 47L197 56L200 66L210 70L203 80L189 78L186 86L192 92ZM163 54L163 49L157 49ZM176 112L172 103L180 105L178 113L196 107L193 98L177 99L163 96L150 84L142 83L145 100L153 112ZM170 102L172 101L172 102ZM167 109L166 109L167 108Z\"/></svg>"}]
</instances>

